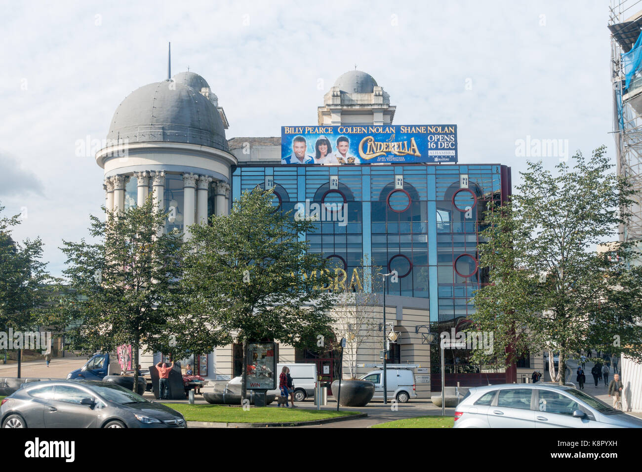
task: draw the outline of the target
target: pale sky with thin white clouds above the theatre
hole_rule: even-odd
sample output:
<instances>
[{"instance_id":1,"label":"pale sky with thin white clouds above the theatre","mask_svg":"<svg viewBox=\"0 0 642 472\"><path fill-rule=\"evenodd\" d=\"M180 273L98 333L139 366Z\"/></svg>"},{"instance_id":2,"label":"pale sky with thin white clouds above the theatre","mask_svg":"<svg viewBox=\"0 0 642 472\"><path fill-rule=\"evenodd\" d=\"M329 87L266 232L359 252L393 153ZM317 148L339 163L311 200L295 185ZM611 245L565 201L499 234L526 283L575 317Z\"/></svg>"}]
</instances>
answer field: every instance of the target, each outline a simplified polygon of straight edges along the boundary
<instances>
[{"instance_id":1,"label":"pale sky with thin white clouds above the theatre","mask_svg":"<svg viewBox=\"0 0 642 472\"><path fill-rule=\"evenodd\" d=\"M227 138L316 125L341 74L371 74L394 124L458 125L460 163L512 167L519 143L561 140L541 157L605 144L614 163L608 1L0 1L0 203L39 236L53 275L62 240L89 233L103 170L78 141L105 139L130 92L202 75ZM520 141L522 140L522 141ZM568 143L568 154L564 152ZM82 150L80 150L82 151Z\"/></svg>"}]
</instances>

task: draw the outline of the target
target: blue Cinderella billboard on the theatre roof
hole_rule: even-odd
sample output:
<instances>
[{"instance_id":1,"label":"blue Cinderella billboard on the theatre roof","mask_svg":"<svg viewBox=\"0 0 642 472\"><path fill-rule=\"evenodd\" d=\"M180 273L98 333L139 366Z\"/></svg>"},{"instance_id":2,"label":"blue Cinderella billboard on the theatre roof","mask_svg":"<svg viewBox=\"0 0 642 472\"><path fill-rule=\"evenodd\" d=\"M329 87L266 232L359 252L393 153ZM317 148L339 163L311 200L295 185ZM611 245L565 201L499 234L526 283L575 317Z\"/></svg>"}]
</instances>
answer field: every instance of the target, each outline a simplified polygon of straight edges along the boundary
<instances>
[{"instance_id":1,"label":"blue Cinderella billboard on the theatre roof","mask_svg":"<svg viewBox=\"0 0 642 472\"><path fill-rule=\"evenodd\" d=\"M457 162L457 125L281 127L281 164Z\"/></svg>"}]
</instances>

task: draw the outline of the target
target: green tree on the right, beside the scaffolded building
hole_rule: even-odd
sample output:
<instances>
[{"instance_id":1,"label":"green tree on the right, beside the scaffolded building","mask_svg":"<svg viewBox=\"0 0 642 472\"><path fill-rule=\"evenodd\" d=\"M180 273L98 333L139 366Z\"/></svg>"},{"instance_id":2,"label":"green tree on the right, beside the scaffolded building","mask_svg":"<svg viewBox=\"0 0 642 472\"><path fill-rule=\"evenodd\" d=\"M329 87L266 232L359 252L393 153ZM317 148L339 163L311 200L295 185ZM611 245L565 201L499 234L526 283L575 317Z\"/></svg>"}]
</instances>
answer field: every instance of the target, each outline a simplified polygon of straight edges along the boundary
<instances>
[{"instance_id":1,"label":"green tree on the right, beside the scaffolded building","mask_svg":"<svg viewBox=\"0 0 642 472\"><path fill-rule=\"evenodd\" d=\"M546 349L559 351L559 371L565 372L568 358L615 334L613 325L596 329L605 328L605 313L596 307L613 299L605 281L620 279L623 269L593 248L617 234L632 190L609 171L603 146L590 159L582 153L574 159L573 169L560 162L557 175L542 162L528 162L510 202L487 212L480 266L489 268L490 284L475 293L470 318L494 332L493 356L507 365L528 349ZM629 243L618 247L622 258L630 250ZM627 337L622 344L636 333L639 339L638 329L621 331ZM483 358L481 351L475 355Z\"/></svg>"}]
</instances>

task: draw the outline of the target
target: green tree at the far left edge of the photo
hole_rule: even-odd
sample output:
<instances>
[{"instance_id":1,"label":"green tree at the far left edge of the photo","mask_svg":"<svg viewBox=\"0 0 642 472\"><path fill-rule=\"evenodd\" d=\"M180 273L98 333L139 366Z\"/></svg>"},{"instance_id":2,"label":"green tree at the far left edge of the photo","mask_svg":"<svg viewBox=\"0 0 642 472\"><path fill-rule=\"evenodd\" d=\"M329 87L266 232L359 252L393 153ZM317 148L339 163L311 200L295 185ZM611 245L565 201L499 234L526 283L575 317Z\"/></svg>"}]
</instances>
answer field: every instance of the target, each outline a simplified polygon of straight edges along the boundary
<instances>
[{"instance_id":1,"label":"green tree at the far left edge of the photo","mask_svg":"<svg viewBox=\"0 0 642 472\"><path fill-rule=\"evenodd\" d=\"M3 210L0 205L0 213ZM0 331L4 332L37 327L52 280L42 261L40 238L13 240L13 227L20 223L20 215L0 218Z\"/></svg>"}]
</instances>

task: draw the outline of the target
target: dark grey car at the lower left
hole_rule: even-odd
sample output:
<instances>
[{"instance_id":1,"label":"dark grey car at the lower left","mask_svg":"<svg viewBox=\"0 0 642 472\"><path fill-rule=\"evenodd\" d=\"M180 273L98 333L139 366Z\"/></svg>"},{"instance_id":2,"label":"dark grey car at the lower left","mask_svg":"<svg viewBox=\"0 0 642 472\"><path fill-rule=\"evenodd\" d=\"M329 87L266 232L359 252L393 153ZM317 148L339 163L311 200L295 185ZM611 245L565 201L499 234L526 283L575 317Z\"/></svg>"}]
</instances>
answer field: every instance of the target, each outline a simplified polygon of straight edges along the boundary
<instances>
[{"instance_id":1,"label":"dark grey car at the lower left","mask_svg":"<svg viewBox=\"0 0 642 472\"><path fill-rule=\"evenodd\" d=\"M114 383L25 383L0 406L3 428L186 428L183 415Z\"/></svg>"}]
</instances>

